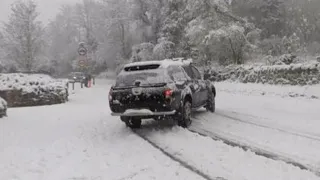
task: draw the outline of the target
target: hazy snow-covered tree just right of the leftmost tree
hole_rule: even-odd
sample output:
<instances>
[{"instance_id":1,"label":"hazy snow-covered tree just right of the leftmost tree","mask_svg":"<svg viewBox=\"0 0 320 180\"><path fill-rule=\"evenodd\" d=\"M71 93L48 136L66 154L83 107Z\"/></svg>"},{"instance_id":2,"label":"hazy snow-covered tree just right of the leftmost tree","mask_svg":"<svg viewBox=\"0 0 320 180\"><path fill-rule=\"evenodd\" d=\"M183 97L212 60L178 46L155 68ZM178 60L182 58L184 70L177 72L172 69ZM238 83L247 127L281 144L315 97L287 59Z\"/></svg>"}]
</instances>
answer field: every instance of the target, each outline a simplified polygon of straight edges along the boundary
<instances>
[{"instance_id":1,"label":"hazy snow-covered tree just right of the leftmost tree","mask_svg":"<svg viewBox=\"0 0 320 180\"><path fill-rule=\"evenodd\" d=\"M57 75L72 71L72 62L77 59L80 27L77 24L75 8L64 5L48 27L46 41L49 44L47 56Z\"/></svg>"}]
</instances>

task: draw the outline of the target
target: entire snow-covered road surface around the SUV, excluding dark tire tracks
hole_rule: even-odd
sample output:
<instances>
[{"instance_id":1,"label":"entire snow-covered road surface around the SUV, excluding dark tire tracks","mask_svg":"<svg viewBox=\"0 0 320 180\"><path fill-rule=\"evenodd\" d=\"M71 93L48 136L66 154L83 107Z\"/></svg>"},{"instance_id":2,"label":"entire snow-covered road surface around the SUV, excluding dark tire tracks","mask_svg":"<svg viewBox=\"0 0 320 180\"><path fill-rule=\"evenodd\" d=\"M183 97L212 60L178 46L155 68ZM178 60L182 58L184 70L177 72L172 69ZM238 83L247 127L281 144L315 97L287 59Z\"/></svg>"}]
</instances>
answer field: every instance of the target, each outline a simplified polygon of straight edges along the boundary
<instances>
[{"instance_id":1,"label":"entire snow-covered road surface around the SUV, excluding dark tire tracks","mask_svg":"<svg viewBox=\"0 0 320 180\"><path fill-rule=\"evenodd\" d=\"M310 171L178 127L160 126L158 129L154 125L157 123L152 122L136 134L118 118L109 115L109 83L99 81L91 89L77 89L66 104L9 109L9 117L0 119L0 179L320 179ZM240 100L244 102L240 103ZM300 141L302 137L291 136L290 133L272 128L262 130L259 126L241 124L219 116L227 114L245 121L319 137L317 128L313 127L317 122L315 107L305 107L308 103L299 101L296 105L305 109L290 111L289 107L272 104L277 101L220 93L217 115L198 112L199 121L195 121L192 128L221 132L221 135L316 165L320 154L316 152L320 144L318 141L306 137ZM287 103L292 105L293 102ZM295 114L286 116L292 111ZM310 116L301 122L304 114ZM182 164L139 135L179 159ZM294 144L295 141L299 144ZM286 143L288 147L298 149L284 148ZM310 156L313 158L310 159Z\"/></svg>"}]
</instances>

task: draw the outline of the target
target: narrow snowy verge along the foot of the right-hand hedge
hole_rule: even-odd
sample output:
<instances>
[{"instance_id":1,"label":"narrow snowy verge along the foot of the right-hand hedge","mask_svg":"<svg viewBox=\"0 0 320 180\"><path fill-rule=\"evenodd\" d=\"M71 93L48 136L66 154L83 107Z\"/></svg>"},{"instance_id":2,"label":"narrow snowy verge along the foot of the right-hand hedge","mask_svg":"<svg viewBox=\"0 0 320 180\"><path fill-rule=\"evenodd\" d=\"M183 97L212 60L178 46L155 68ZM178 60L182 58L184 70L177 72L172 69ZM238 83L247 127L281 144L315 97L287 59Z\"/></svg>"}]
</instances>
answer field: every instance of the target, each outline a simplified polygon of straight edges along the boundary
<instances>
[{"instance_id":1,"label":"narrow snowy verge along the foot of the right-hand hedge","mask_svg":"<svg viewBox=\"0 0 320 180\"><path fill-rule=\"evenodd\" d=\"M215 82L217 91L258 96L320 98L320 85L291 86L256 83Z\"/></svg>"}]
</instances>

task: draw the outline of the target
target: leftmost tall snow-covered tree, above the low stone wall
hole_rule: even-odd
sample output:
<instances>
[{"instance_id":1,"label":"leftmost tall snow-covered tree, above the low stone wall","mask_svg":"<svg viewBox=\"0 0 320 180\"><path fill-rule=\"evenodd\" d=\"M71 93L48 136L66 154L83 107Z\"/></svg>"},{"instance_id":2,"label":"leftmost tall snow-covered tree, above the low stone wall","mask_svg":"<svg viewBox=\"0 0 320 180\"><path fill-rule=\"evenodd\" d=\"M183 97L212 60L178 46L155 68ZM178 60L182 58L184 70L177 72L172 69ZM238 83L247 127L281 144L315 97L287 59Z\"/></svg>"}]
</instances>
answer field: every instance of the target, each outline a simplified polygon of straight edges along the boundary
<instances>
[{"instance_id":1,"label":"leftmost tall snow-covered tree, above the low stone wall","mask_svg":"<svg viewBox=\"0 0 320 180\"><path fill-rule=\"evenodd\" d=\"M7 60L14 61L23 70L32 71L43 58L44 45L44 28L37 20L37 5L31 0L17 1L11 10L9 22L3 28Z\"/></svg>"}]
</instances>

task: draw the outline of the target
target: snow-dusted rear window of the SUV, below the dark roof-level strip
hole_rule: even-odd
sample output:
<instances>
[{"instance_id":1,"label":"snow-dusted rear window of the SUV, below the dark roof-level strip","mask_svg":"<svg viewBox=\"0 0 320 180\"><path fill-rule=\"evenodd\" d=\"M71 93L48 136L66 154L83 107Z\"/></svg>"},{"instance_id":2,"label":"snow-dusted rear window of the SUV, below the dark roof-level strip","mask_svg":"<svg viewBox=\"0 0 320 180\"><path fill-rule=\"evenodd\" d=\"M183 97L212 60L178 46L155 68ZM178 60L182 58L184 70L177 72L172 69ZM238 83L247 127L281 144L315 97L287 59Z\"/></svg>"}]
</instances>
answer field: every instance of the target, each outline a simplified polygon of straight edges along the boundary
<instances>
[{"instance_id":1,"label":"snow-dusted rear window of the SUV, below the dark roof-level strip","mask_svg":"<svg viewBox=\"0 0 320 180\"><path fill-rule=\"evenodd\" d=\"M115 87L135 86L140 81L140 86L149 86L166 83L170 81L165 69L143 70L120 73L117 77Z\"/></svg>"}]
</instances>

